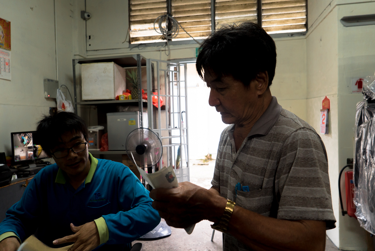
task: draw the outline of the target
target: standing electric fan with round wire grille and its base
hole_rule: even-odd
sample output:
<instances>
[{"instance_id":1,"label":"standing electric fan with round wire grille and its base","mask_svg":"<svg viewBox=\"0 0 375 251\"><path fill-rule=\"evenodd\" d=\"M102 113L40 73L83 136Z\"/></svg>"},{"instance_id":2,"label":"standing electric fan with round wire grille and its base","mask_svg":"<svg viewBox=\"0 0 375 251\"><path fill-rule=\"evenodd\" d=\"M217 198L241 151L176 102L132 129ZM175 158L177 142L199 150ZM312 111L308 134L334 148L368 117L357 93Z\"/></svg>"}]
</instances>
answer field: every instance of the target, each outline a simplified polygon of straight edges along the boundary
<instances>
[{"instance_id":1,"label":"standing electric fan with round wire grille and its base","mask_svg":"<svg viewBox=\"0 0 375 251\"><path fill-rule=\"evenodd\" d=\"M136 162L136 165L141 168L149 168L160 161L163 155L163 146L156 133L147 128L137 128L131 131L126 138L126 153L130 160ZM156 228L139 239L157 240L168 237L171 233L171 227L165 221L160 221Z\"/></svg>"}]
</instances>

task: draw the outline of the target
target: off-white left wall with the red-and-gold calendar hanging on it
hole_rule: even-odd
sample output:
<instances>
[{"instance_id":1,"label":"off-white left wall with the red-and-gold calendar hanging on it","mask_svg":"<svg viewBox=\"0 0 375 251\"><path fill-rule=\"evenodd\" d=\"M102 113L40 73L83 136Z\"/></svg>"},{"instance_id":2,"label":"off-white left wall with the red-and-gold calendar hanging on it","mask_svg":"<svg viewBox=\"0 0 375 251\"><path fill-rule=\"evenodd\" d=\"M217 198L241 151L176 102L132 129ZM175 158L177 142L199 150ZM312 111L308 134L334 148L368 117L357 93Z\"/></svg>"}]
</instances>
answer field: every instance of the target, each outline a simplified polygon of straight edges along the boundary
<instances>
[{"instance_id":1,"label":"off-white left wall with the red-and-gold calendar hanging on it","mask_svg":"<svg viewBox=\"0 0 375 251\"><path fill-rule=\"evenodd\" d=\"M67 85L72 76L66 61L71 64L72 6L67 0L55 2L58 74ZM0 17L11 22L12 80L0 79L0 152L10 155L10 133L35 130L42 113L56 106L43 96L43 79L57 79L54 1L0 0L0 6Z\"/></svg>"}]
</instances>

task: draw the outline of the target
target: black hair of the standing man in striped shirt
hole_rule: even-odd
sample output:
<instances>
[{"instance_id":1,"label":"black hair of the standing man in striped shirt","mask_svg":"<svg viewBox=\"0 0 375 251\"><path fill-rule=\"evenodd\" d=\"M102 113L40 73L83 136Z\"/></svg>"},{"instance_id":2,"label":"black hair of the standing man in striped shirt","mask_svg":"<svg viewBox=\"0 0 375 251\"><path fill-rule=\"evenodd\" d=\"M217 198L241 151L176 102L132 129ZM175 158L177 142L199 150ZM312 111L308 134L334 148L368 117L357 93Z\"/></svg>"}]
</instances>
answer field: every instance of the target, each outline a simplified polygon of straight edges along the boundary
<instances>
[{"instance_id":1,"label":"black hair of the standing man in striped shirt","mask_svg":"<svg viewBox=\"0 0 375 251\"><path fill-rule=\"evenodd\" d=\"M246 21L224 25L211 33L199 46L196 70L216 77L231 75L248 86L258 73L267 71L272 84L276 68L275 41L258 24Z\"/></svg>"}]
</instances>

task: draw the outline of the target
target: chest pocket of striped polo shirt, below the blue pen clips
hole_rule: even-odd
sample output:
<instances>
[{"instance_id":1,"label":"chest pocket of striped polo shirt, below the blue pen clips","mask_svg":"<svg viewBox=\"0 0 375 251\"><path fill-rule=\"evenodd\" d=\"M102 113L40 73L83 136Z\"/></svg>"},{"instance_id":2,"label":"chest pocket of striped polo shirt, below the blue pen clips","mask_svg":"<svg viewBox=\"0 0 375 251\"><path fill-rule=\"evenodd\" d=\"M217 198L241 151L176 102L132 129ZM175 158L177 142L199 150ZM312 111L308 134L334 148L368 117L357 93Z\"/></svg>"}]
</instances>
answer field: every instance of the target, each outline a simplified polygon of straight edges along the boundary
<instances>
[{"instance_id":1,"label":"chest pocket of striped polo shirt, below the blue pen clips","mask_svg":"<svg viewBox=\"0 0 375 251\"><path fill-rule=\"evenodd\" d=\"M244 209L268 216L272 206L272 188L250 192L237 191L236 205Z\"/></svg>"}]
</instances>

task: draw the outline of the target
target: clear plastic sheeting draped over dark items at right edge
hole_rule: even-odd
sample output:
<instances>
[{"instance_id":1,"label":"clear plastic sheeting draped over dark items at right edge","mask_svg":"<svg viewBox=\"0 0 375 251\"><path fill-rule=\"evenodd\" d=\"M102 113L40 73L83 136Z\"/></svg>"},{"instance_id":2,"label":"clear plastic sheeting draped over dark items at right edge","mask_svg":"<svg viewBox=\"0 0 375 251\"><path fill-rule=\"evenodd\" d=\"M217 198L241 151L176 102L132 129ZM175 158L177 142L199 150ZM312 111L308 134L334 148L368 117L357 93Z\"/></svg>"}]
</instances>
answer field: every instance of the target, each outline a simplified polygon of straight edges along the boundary
<instances>
[{"instance_id":1,"label":"clear plastic sheeting draped over dark items at right edge","mask_svg":"<svg viewBox=\"0 0 375 251\"><path fill-rule=\"evenodd\" d=\"M362 93L356 110L354 204L361 227L375 234L375 76L366 77Z\"/></svg>"}]
</instances>

